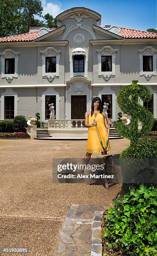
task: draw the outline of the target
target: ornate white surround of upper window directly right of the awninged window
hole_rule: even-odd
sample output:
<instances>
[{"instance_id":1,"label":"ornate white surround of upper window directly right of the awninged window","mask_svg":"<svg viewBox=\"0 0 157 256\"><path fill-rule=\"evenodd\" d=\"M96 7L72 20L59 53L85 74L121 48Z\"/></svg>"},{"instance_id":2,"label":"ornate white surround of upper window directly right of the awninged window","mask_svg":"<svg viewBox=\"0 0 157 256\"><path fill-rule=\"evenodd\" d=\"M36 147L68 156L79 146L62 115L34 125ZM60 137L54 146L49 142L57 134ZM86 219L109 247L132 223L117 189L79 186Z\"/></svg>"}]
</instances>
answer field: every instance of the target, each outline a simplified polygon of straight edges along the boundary
<instances>
[{"instance_id":1,"label":"ornate white surround of upper window directly right of the awninged window","mask_svg":"<svg viewBox=\"0 0 157 256\"><path fill-rule=\"evenodd\" d=\"M97 50L99 77L104 77L105 80L109 80L110 77L115 77L115 59L117 51L118 50L113 49L111 46L104 46L102 49ZM101 71L101 56L112 56L112 71Z\"/></svg>"}]
</instances>

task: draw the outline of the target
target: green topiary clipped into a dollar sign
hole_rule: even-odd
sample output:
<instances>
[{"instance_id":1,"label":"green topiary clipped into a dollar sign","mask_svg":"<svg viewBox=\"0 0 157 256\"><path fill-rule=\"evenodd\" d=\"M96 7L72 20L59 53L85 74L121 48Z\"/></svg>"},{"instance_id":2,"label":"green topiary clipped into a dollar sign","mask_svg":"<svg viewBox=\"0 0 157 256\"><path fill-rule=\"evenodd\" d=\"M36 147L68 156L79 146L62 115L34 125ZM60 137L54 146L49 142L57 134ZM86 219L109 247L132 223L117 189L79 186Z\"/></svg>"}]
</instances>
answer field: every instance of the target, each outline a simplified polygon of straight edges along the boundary
<instances>
[{"instance_id":1,"label":"green topiary clipped into a dollar sign","mask_svg":"<svg viewBox=\"0 0 157 256\"><path fill-rule=\"evenodd\" d=\"M131 115L130 128L124 123L116 123L115 129L125 138L130 139L130 147L135 147L138 139L150 133L154 123L152 113L138 103L138 97L144 102L149 102L152 98L150 90L133 80L132 84L121 89L117 95L117 102L121 110ZM142 130L138 131L138 121L142 122Z\"/></svg>"}]
</instances>

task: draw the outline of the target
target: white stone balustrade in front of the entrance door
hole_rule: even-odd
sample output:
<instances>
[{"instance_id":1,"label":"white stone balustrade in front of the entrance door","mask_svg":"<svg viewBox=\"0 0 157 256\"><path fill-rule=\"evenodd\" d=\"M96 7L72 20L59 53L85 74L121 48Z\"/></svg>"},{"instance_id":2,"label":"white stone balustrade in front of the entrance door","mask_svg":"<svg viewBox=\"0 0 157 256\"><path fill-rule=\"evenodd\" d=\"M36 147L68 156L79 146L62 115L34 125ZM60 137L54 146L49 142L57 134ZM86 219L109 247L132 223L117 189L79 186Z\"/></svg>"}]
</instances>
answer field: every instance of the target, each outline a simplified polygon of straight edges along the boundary
<instances>
[{"instance_id":1,"label":"white stone balustrade in front of the entrance door","mask_svg":"<svg viewBox=\"0 0 157 256\"><path fill-rule=\"evenodd\" d=\"M54 119L48 120L48 128L85 128L85 119Z\"/></svg>"}]
</instances>

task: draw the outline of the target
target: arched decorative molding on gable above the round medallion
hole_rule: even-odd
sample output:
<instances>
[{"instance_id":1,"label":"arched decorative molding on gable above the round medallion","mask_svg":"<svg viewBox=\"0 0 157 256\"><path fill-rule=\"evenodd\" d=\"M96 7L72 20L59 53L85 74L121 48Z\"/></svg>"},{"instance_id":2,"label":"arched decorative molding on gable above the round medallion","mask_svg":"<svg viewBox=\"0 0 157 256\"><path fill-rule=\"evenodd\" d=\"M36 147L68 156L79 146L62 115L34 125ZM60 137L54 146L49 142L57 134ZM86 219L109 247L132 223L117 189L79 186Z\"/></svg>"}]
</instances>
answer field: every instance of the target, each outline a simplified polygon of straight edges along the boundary
<instances>
[{"instance_id":1,"label":"arched decorative molding on gable above the round medallion","mask_svg":"<svg viewBox=\"0 0 157 256\"><path fill-rule=\"evenodd\" d=\"M86 25L83 25L83 23L75 23L75 25L70 26L69 28L67 28L65 33L63 33L62 40L65 40L65 38L67 37L67 35L69 33L71 33L72 31L75 31L78 28L80 28L82 30L85 30L86 32L90 33L90 35L92 36L92 39L96 40L95 32L92 30L92 28L90 28Z\"/></svg>"}]
</instances>

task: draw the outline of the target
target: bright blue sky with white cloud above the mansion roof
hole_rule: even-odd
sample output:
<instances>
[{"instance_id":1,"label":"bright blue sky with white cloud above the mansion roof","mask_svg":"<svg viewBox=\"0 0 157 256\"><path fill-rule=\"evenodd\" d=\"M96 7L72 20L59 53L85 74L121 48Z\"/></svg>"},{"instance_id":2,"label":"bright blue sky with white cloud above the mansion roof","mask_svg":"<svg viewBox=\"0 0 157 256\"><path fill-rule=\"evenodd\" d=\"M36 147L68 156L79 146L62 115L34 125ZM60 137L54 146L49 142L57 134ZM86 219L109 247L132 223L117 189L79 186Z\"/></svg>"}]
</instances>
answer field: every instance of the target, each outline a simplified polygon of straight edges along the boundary
<instances>
[{"instance_id":1,"label":"bright blue sky with white cloud above the mansion roof","mask_svg":"<svg viewBox=\"0 0 157 256\"><path fill-rule=\"evenodd\" d=\"M157 0L41 0L43 15L55 17L72 7L86 7L102 15L102 26L117 25L146 31L157 28Z\"/></svg>"}]
</instances>

